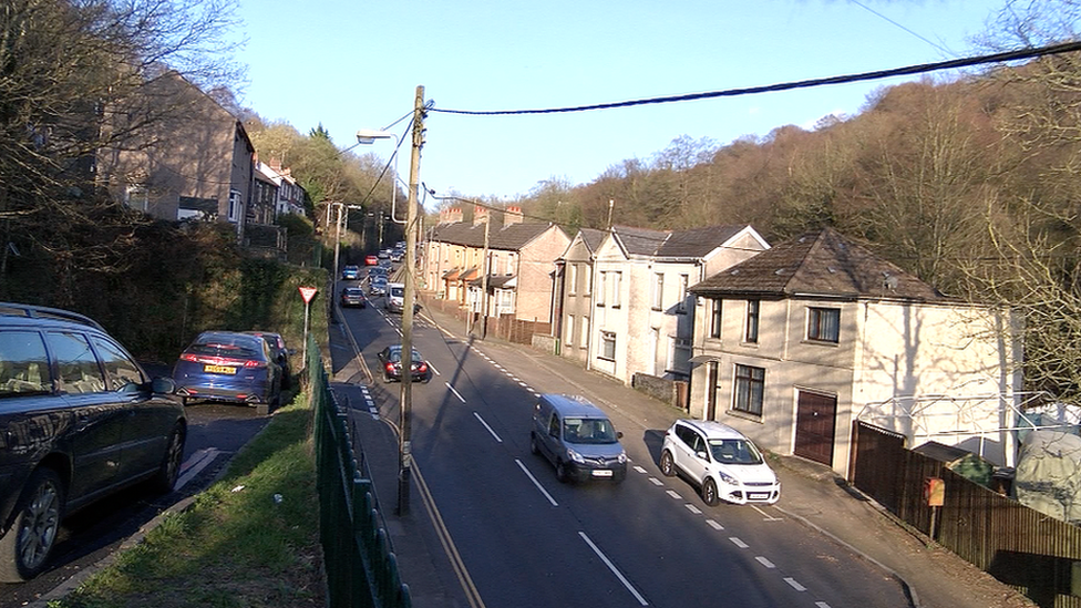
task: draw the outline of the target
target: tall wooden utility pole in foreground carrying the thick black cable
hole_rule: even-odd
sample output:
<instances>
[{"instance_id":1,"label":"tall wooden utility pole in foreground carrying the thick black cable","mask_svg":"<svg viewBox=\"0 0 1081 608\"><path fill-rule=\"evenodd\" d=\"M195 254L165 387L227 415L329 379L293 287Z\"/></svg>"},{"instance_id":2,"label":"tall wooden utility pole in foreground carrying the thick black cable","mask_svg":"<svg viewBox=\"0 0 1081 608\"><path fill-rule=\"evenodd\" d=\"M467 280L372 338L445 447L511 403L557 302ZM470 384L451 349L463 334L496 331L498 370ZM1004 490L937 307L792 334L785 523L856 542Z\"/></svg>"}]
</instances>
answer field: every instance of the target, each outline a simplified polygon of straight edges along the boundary
<instances>
[{"instance_id":1,"label":"tall wooden utility pole in foreground carrying the thick black cable","mask_svg":"<svg viewBox=\"0 0 1081 608\"><path fill-rule=\"evenodd\" d=\"M409 163L409 203L405 209L405 292L402 297L402 392L398 451L398 515L409 514L409 484L413 466L413 309L416 302L418 186L421 175L421 147L424 145L424 86L416 87L413 101L413 153Z\"/></svg>"}]
</instances>

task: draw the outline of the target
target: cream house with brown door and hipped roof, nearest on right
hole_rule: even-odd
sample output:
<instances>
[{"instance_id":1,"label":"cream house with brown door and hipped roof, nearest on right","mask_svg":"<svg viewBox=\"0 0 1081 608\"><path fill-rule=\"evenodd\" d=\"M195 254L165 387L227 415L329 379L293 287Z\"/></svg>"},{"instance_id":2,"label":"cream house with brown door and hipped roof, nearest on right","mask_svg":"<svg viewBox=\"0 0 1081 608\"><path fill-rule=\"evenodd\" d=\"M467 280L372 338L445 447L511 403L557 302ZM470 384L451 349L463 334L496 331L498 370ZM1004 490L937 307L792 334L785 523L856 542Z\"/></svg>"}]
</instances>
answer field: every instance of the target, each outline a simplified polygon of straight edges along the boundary
<instances>
[{"instance_id":1,"label":"cream house with brown door and hipped roof, nearest on right","mask_svg":"<svg viewBox=\"0 0 1081 608\"><path fill-rule=\"evenodd\" d=\"M832 228L690 291L691 416L841 475L857 420L910 447L1013 464L1021 348L1009 311L946 297Z\"/></svg>"}]
</instances>

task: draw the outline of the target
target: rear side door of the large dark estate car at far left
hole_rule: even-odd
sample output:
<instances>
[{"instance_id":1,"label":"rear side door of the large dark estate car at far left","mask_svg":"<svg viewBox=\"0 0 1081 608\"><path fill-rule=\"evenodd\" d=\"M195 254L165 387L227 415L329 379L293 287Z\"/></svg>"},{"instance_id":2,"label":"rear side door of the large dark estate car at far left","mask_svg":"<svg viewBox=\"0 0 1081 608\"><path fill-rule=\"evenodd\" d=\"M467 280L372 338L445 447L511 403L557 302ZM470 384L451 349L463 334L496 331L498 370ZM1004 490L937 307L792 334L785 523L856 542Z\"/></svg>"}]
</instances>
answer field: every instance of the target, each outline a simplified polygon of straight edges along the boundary
<instances>
[{"instance_id":1,"label":"rear side door of the large dark estate car at far left","mask_svg":"<svg viewBox=\"0 0 1081 608\"><path fill-rule=\"evenodd\" d=\"M105 377L84 333L49 331L56 388L73 414L71 501L93 499L121 480L127 409L105 391Z\"/></svg>"}]
</instances>

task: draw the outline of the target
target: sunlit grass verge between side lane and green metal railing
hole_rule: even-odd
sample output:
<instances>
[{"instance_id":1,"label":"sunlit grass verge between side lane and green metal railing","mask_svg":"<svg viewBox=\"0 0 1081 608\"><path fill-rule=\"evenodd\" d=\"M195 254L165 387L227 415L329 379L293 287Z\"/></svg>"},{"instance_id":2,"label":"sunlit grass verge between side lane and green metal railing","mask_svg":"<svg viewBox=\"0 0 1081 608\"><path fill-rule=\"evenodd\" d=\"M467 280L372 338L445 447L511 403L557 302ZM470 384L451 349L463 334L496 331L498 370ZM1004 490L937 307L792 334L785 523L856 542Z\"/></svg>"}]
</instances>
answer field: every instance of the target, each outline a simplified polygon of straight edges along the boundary
<instances>
[{"instance_id":1,"label":"sunlit grass verge between side lane and green metal railing","mask_svg":"<svg viewBox=\"0 0 1081 608\"><path fill-rule=\"evenodd\" d=\"M275 412L191 508L50 608L322 607L308 403Z\"/></svg>"}]
</instances>

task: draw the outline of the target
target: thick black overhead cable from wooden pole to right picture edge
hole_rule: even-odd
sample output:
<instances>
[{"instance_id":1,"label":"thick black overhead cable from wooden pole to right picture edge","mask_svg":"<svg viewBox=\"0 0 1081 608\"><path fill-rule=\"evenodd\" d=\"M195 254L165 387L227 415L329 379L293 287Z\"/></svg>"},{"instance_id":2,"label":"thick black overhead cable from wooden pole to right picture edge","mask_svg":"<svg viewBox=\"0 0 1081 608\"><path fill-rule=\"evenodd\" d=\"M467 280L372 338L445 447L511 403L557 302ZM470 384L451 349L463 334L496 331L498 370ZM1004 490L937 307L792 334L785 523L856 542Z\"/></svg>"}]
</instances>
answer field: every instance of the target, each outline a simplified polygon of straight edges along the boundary
<instances>
[{"instance_id":1,"label":"thick black overhead cable from wooden pole to right picture edge","mask_svg":"<svg viewBox=\"0 0 1081 608\"><path fill-rule=\"evenodd\" d=\"M879 79L886 79L892 76L923 74L927 72L936 72L939 70L954 70L957 68L969 68L972 65L982 65L987 63L1005 63L1009 61L1020 61L1025 59L1033 59L1033 58L1054 55L1061 53L1072 53L1077 51L1081 51L1081 41L1063 42L1061 44L1051 44L1049 47L1038 47L1033 49L1020 49L1016 51L1006 51L1001 53L994 53L990 55L951 59L948 61L939 61L936 63L922 63L919 65L894 68L890 70L876 70L874 72L863 72L859 74L848 74L843 76L828 76L822 79L801 80L796 82L766 84L762 86L727 89L723 91L707 91L702 93L687 93L683 95L668 95L663 97L648 97L642 100L597 103L591 105L576 105L570 107L550 107L550 109L538 109L538 110L492 110L492 111L444 110L441 107L433 106L430 110L432 112L442 112L444 114L467 114L467 115L475 115L475 116L496 116L496 115L511 115L511 114L559 114L559 113L567 113L567 112L585 112L587 110L611 110L615 107L631 107L635 105L653 105L660 103L676 103L676 102L684 102L684 101L709 100L715 97L735 97L740 95L752 95L756 93L772 93L776 91L791 91L794 89L810 89L812 86L822 86L825 84L846 84L851 82L879 80Z\"/></svg>"}]
</instances>

